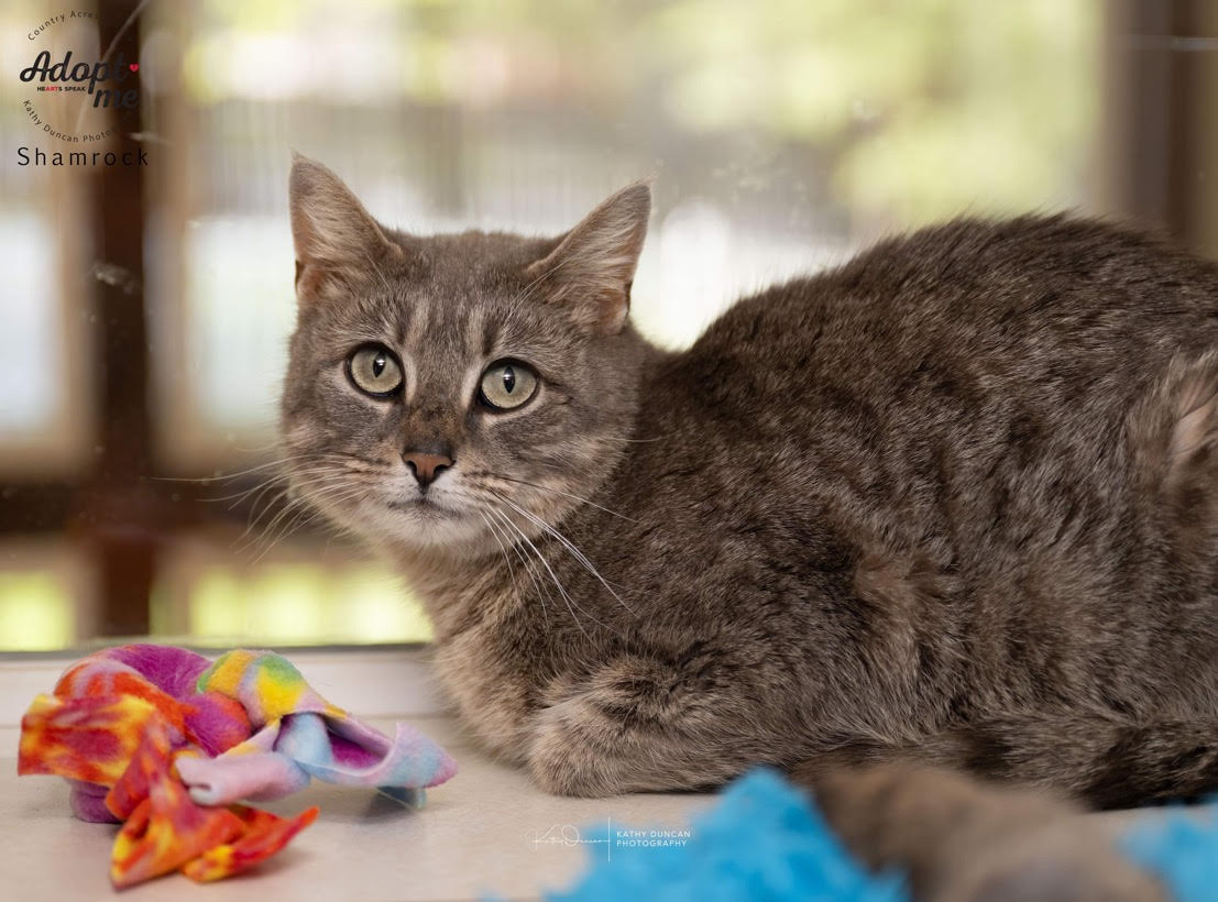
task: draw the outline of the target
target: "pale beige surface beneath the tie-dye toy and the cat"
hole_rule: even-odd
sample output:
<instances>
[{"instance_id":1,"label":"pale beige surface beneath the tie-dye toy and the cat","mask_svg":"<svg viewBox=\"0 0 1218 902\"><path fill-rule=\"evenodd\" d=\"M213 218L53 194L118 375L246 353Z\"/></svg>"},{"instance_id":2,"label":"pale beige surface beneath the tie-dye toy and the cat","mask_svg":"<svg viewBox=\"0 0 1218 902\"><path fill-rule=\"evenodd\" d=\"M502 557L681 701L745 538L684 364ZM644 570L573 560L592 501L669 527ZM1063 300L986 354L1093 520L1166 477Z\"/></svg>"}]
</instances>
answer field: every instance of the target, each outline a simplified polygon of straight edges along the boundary
<instances>
[{"instance_id":1,"label":"pale beige surface beneath the tie-dye toy and the cat","mask_svg":"<svg viewBox=\"0 0 1218 902\"><path fill-rule=\"evenodd\" d=\"M392 729L390 721L369 719L382 730ZM580 828L607 822L614 831L683 829L713 801L700 794L549 796L533 788L524 772L497 764L473 749L451 718L408 719L448 749L460 766L451 781L429 790L425 808L403 808L368 790L314 783L295 796L261 806L292 814L317 805L322 812L285 850L247 874L199 885L174 873L122 893L111 889L108 879L117 827L74 819L61 779L18 778L16 760L0 757L0 898L537 898L544 890L569 886L583 872L590 855L607 853L603 845L555 837L571 837ZM1155 809L1082 817L1100 819L1116 835L1136 817L1162 814L1163 809Z\"/></svg>"}]
</instances>

